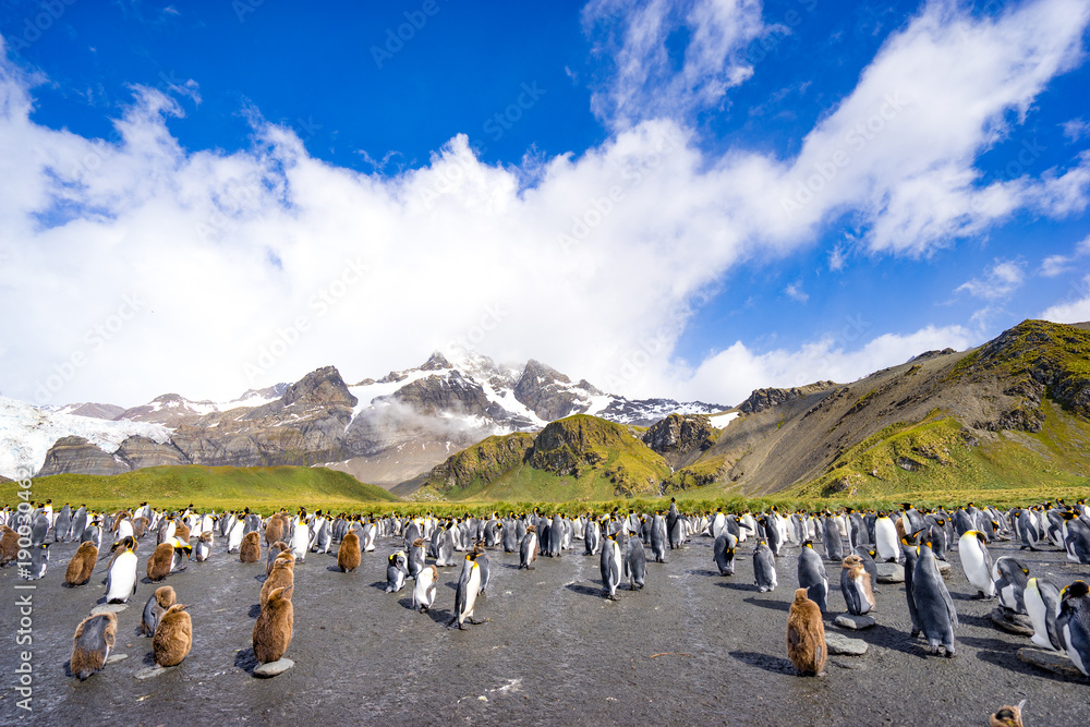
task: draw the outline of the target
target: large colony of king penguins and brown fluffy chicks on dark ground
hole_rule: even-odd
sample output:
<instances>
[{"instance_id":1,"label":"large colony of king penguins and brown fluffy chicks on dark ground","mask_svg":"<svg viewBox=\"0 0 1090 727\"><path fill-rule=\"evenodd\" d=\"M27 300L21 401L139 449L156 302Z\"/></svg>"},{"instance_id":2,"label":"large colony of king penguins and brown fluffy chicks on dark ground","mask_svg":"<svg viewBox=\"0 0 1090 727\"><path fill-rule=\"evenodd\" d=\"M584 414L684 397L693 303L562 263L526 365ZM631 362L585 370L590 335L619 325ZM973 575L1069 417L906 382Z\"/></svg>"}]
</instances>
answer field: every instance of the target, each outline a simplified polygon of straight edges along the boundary
<instances>
[{"instance_id":1,"label":"large colony of king penguins and brown fluffy chicks on dark ground","mask_svg":"<svg viewBox=\"0 0 1090 727\"><path fill-rule=\"evenodd\" d=\"M905 597L912 621L909 638L922 635L932 654L954 656L958 615L937 566L947 560L947 550L953 546L974 590L968 596L994 598L1001 609L1026 616L1032 623L1036 645L1066 655L1076 668L1090 676L1087 582L1077 579L1061 584L1047 573L1031 572L1018 558L993 560L988 549L994 541L1013 541L1020 543L1024 550L1058 548L1069 561L1090 565L1090 508L1082 501L1068 506L1058 500L1008 511L972 504L953 511L929 511L906 502L896 512L826 510L787 516L776 508L758 514L725 513L720 509L712 516L692 516L681 513L671 502L667 512L630 512L627 517L616 509L608 514L573 519L564 513L547 517L535 508L531 513L511 512L505 518L493 513L484 519L467 514L445 520L397 513L380 518L330 517L320 510L310 514L304 509L294 514L281 511L266 519L249 509L216 514L196 512L192 506L181 513L167 513L147 502L112 513L90 512L85 507L73 511L65 505L53 513L47 504L26 514L10 508L0 511L0 565L15 559L21 530L29 531L32 554L38 554L32 555L29 572L21 573L28 579L45 577L51 542L80 542L65 570L68 587L89 583L106 547L108 564L99 572L105 573L102 595L107 604L125 604L136 594L141 540L154 538L155 547L145 548L150 550L145 572L155 590L145 603L140 633L152 638L153 659L162 667L181 664L193 647L194 623L189 606L178 602L173 587L158 584L186 568L195 549L191 540L196 542L199 560L215 557L218 534L223 538L220 553L238 553L239 561L251 564L262 560L264 538L266 578L255 594L261 611L253 630L253 652L256 661L268 663L282 658L291 644L294 571L307 553L336 556L337 569L351 573L360 566L363 554L376 549L377 537L393 538L400 547L387 557L386 591L398 593L412 580L412 608L421 613L435 606L439 568L460 567L448 627L464 629L486 620L480 619L476 610L491 575L488 547L518 553L521 570L535 568L538 556L561 557L564 550L572 549L572 540L581 540L583 555L600 559L602 595L617 599L622 584L633 594L646 585L646 546L651 546L654 561L666 562L668 550L683 547L697 535L706 535L714 538L713 560L724 577L735 573L738 548L747 540L755 543L753 569L762 593L775 591L778 585L777 558L788 547L799 548L800 587L789 608L787 653L800 675L821 674L827 657L822 620L829 610L826 562L839 565L847 611L856 616L877 609L875 561L904 564ZM824 557L815 543L821 545ZM339 544L336 549L335 544ZM74 678L87 679L105 667L117 638L117 622L112 613L88 616L78 622L69 664ZM1021 707L1001 707L992 724L1020 724Z\"/></svg>"}]
</instances>

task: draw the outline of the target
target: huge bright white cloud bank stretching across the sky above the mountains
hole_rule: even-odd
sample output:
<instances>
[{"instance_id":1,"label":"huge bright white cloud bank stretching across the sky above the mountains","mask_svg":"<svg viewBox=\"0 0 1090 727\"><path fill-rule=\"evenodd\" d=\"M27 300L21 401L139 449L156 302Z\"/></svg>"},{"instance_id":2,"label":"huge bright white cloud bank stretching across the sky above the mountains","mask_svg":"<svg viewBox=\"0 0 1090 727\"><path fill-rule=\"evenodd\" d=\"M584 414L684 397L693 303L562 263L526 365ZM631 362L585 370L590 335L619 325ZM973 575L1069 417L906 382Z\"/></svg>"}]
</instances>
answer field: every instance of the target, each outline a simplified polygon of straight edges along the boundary
<instances>
[{"instance_id":1,"label":"huge bright white cloud bank stretching across the sky above the mountains","mask_svg":"<svg viewBox=\"0 0 1090 727\"><path fill-rule=\"evenodd\" d=\"M632 78L639 48L657 68L665 36L654 19L681 22L663 8L646 2L623 23L651 38L626 38ZM668 78L682 106L718 102L744 75L725 49L754 32L753 8L690 8L685 22L712 29L693 33L686 63L714 77ZM377 376L462 340L627 396L724 399L724 369L719 379L702 372L727 352L694 369L673 355L700 296L739 260L811 244L844 213L865 223L860 242L872 251L927 254L1015 209L1050 216L1086 204L1085 158L982 189L973 167L1018 123L1010 112L1028 113L1079 57L1086 24L1085 3L1069 0L995 21L928 5L794 159L740 148L710 158L683 123L658 118L531 172L483 163L458 136L393 177L314 159L256 110L251 148L183 149L168 126L183 108L148 89L116 121L116 143L47 129L31 118L38 81L0 58L0 306L21 312L0 324L3 393L35 400L57 380L53 402L134 404L165 387L227 399L326 364L349 380ZM873 119L881 130L868 131ZM840 149L848 163L785 213L782 201ZM861 351L832 341L768 354L738 343L728 351L748 358L727 378L741 388L846 379L958 336L927 329ZM811 354L828 363L790 364Z\"/></svg>"}]
</instances>

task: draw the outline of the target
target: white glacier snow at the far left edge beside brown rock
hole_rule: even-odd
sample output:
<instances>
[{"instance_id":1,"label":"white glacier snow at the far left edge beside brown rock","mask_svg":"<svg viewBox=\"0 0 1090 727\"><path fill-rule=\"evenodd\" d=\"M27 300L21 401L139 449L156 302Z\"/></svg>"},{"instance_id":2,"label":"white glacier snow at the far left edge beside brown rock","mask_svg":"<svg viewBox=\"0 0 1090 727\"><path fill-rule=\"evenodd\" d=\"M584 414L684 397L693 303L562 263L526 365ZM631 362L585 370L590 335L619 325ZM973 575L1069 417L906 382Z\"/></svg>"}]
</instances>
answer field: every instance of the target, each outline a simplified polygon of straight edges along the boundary
<instances>
[{"instance_id":1,"label":"white glacier snow at the far left edge beside brown rock","mask_svg":"<svg viewBox=\"0 0 1090 727\"><path fill-rule=\"evenodd\" d=\"M62 414L0 397L0 474L15 477L21 469L36 473L45 463L49 448L61 437L83 437L112 455L131 436L140 435L165 444L170 440L171 432L161 424Z\"/></svg>"}]
</instances>

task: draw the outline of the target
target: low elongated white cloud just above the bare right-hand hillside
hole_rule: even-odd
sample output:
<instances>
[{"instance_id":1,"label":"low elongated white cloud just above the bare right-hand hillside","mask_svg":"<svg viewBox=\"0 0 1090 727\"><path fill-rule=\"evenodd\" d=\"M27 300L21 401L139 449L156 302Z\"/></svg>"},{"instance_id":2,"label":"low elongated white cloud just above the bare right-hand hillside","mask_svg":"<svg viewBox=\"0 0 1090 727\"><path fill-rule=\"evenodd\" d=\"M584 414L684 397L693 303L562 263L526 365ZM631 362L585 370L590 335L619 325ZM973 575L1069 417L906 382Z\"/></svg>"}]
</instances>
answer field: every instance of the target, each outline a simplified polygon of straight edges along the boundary
<instances>
[{"instance_id":1,"label":"low elongated white cloud just above the bare right-hand hillside","mask_svg":"<svg viewBox=\"0 0 1090 727\"><path fill-rule=\"evenodd\" d=\"M979 343L977 337L961 326L928 326L907 335L885 334L851 350L852 342L864 329L849 320L841 335L812 341L794 351L780 349L756 353L738 341L708 356L691 372L687 392L693 398L703 397L705 401L738 404L755 388L755 383L782 388L818 380L847 384L880 368L905 363L924 351L965 350Z\"/></svg>"}]
</instances>

